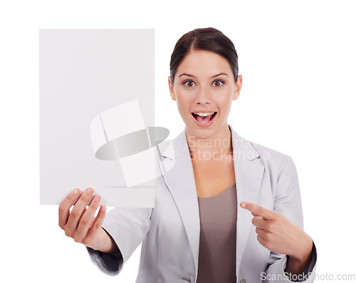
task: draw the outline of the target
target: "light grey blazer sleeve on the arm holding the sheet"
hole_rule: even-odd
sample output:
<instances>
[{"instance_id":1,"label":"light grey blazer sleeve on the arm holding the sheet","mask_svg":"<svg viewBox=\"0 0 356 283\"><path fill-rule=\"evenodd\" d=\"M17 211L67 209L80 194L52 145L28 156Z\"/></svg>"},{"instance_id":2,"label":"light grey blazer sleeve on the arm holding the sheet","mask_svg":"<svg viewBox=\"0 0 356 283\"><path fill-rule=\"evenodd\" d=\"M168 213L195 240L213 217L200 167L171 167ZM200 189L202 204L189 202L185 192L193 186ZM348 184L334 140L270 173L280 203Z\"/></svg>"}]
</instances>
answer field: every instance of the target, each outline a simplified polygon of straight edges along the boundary
<instances>
[{"instance_id":1,"label":"light grey blazer sleeve on the arm holding the sheet","mask_svg":"<svg viewBox=\"0 0 356 283\"><path fill-rule=\"evenodd\" d=\"M109 254L87 247L91 261L109 275L117 275L150 230L153 208L115 207L108 212L103 229L115 241L120 252Z\"/></svg>"}]
</instances>

